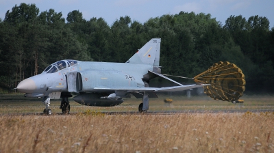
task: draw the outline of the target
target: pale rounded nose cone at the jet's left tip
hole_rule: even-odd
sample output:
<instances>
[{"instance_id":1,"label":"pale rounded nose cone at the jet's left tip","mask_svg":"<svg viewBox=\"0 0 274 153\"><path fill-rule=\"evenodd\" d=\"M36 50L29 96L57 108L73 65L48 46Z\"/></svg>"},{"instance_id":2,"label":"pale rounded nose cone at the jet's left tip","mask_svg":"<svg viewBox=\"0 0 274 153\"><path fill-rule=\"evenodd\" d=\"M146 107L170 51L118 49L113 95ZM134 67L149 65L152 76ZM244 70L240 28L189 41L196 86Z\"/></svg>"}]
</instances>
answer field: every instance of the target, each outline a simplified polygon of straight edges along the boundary
<instances>
[{"instance_id":1,"label":"pale rounded nose cone at the jet's left tip","mask_svg":"<svg viewBox=\"0 0 274 153\"><path fill-rule=\"evenodd\" d=\"M16 89L19 92L32 93L36 89L36 85L32 79L25 79L17 85Z\"/></svg>"}]
</instances>

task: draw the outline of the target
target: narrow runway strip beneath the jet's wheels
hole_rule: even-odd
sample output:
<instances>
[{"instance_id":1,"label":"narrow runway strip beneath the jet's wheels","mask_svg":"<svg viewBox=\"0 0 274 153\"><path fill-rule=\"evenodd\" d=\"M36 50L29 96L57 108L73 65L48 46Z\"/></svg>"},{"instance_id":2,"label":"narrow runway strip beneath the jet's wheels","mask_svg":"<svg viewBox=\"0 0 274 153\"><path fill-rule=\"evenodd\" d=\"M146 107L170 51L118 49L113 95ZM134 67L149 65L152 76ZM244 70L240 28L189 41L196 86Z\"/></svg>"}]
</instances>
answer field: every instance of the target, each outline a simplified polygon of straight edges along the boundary
<instances>
[{"instance_id":1,"label":"narrow runway strip beneath the jet's wheels","mask_svg":"<svg viewBox=\"0 0 274 153\"><path fill-rule=\"evenodd\" d=\"M174 115L180 113L246 113L247 111L251 113L265 113L265 112L274 112L273 109L258 109L258 110L236 110L236 109L229 109L229 110L213 110L213 111L204 111L204 110L185 110L185 111L147 111L144 113L139 113L138 111L119 111L119 112L93 112L101 113L104 115ZM75 113L71 112L68 114L63 113L52 113L51 115L85 115L85 113ZM92 112L90 112L92 114ZM14 116L14 115L45 115L44 113L5 113L1 114L0 116Z\"/></svg>"}]
</instances>

